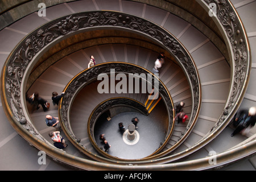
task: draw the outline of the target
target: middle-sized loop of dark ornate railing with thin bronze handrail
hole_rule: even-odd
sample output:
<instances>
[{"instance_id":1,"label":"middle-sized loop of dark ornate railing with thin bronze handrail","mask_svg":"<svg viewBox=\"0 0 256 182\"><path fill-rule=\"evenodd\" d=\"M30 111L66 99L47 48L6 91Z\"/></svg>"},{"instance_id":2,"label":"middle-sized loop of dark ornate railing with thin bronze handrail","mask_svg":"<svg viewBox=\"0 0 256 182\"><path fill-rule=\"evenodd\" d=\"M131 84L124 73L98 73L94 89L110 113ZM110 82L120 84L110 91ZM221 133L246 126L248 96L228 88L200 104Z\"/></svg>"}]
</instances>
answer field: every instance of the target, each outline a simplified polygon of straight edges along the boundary
<instances>
[{"instance_id":1,"label":"middle-sized loop of dark ornate railing with thin bronze handrail","mask_svg":"<svg viewBox=\"0 0 256 182\"><path fill-rule=\"evenodd\" d=\"M77 141L77 138L75 136L75 134L72 131L72 127L71 127L71 119L69 117L69 113L70 113L70 109L72 107L72 103L76 98L76 95L80 92L80 90L82 88L84 88L86 85L88 85L91 82L94 82L97 80L98 76L100 74L111 74L112 70L115 70L115 73L124 73L124 74L135 74L137 73L138 76L134 76L134 77L138 77L141 78L143 82L146 82L147 84L150 84L151 87L152 85L154 85L154 93L158 93L159 96L161 97L166 109L167 109L167 115L168 115L168 121L169 121L169 125L166 131L166 137L165 137L165 141L163 142L163 145L161 148L163 148L167 142L168 139L171 137L172 131L174 130L174 104L172 102L170 93L168 92L166 86L164 86L164 84L162 83L162 81L160 81L158 79L158 77L156 77L155 75L152 75L151 72L147 71L146 69L139 67L138 65L135 64L131 64L131 63L124 63L124 62L108 62L108 63L101 63L98 65L94 65L93 67L89 68L89 69L85 69L84 71L80 72L79 74L77 74L74 78L72 78L71 81L69 81L69 83L67 84L67 86L64 89L64 96L61 98L60 101L60 106L59 106L59 116L60 116L60 121L63 124L63 131L65 133L65 135L67 135L69 141L72 142L72 144L77 147L81 152L83 152L85 155L93 155L91 156L92 158L97 158L98 154L92 154L91 151L87 150L85 147L81 146L79 140ZM148 78L143 78L140 75L144 74L144 75L150 75L151 79L148 80ZM152 82L151 82L152 81ZM155 86L157 85L157 87ZM149 90L147 90L149 91ZM151 92L151 91L150 91ZM150 93L148 93L149 95ZM94 113L94 111L93 111ZM93 114L92 113L92 114ZM91 121L92 115L90 115L90 118L88 118L88 133L89 133L89 139L90 141L93 141L93 126L91 125L92 123L96 122ZM92 144L94 144L92 142ZM95 146L95 145L93 145ZM159 149L160 150L160 149ZM158 150L158 151L159 151ZM117 160L117 158L114 158L113 156L110 155L105 155L108 156L109 158L112 158L113 160ZM99 158L100 160L102 160L102 158ZM136 160L146 160L147 158L143 158L143 159L136 159ZM126 160L126 159L118 159L118 160L124 160L124 161L131 161L131 160ZM115 163L115 162L114 162Z\"/></svg>"}]
</instances>

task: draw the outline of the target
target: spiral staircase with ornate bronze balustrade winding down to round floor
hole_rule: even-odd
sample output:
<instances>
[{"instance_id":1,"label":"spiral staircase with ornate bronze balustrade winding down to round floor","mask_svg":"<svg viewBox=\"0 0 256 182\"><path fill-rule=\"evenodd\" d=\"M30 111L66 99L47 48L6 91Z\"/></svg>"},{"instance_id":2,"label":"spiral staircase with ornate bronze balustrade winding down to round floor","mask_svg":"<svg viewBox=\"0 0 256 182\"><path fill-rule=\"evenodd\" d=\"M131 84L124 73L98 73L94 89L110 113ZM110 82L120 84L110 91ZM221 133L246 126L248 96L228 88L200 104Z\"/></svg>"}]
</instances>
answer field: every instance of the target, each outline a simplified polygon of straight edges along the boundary
<instances>
[{"instance_id":1,"label":"spiral staircase with ornate bronze balustrade winding down to round floor","mask_svg":"<svg viewBox=\"0 0 256 182\"><path fill-rule=\"evenodd\" d=\"M256 102L256 25L251 22L256 1L46 1L46 16L39 16L41 1L13 5L5 2L2 1L5 8L1 10L0 32L1 170L255 170L255 127L246 136L231 137L234 128L229 123L237 110L255 106ZM214 11L210 11L210 3L215 5L217 16L210 14ZM122 24L133 18L142 19L148 23L143 30L166 31L163 33L166 36L155 38L151 31L115 26L111 21L106 26L88 24L85 30L77 28L77 24L71 29L58 26L59 22L67 23L72 18L73 22L79 22L90 15L100 22L97 13L112 15L104 18L120 18ZM36 35L43 38L43 43L33 47L28 40L36 42ZM172 36L172 41L162 44L161 40L167 36ZM176 48L168 49L176 43L188 60L180 59ZM170 105L157 100L149 105L147 94L100 94L97 81L82 85L74 91L75 97L67 96L82 75L93 74L102 65L126 64L151 72L159 52L166 55L159 80L170 94ZM97 65L87 69L90 55L95 57ZM16 61L8 65L12 56ZM238 63L238 59L243 62ZM51 103L46 112L42 108L32 112L26 103L25 94L35 91ZM65 92L59 106L51 102L53 91ZM189 119L185 123L172 122L174 115L168 112L171 129L160 150L142 159L119 159L97 150L88 132L88 119L94 109L116 97L139 102L147 107L149 115L157 114L154 111L160 104L168 110L184 101ZM165 101L164 97L162 100ZM68 117L63 116L63 108L70 109ZM53 147L48 137L53 129L44 122L46 114L61 118L61 135L69 144L64 150ZM39 164L39 151L46 152L46 164ZM212 151L217 161L214 164L210 163Z\"/></svg>"}]
</instances>

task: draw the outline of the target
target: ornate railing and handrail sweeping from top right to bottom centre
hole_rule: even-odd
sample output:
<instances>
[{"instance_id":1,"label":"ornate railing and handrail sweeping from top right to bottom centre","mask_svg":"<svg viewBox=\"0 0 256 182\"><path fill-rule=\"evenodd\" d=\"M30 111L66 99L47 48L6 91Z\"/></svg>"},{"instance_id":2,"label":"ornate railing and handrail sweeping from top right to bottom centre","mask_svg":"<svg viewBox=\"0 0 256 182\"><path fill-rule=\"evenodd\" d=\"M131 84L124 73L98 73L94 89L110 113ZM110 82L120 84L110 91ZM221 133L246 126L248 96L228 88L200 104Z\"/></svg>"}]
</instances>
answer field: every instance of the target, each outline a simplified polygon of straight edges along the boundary
<instances>
[{"instance_id":1,"label":"ornate railing and handrail sweeping from top right to bottom centre","mask_svg":"<svg viewBox=\"0 0 256 182\"><path fill-rule=\"evenodd\" d=\"M166 156L165 158L158 159L159 162L167 163L174 162L184 156L192 154L193 152L199 150L201 147L205 146L211 142L222 130L228 126L229 122L233 118L236 111L241 105L242 98L245 95L247 86L249 84L250 70L251 70L251 56L250 56L250 46L248 38L243 27L242 21L229 0L196 0L199 4L204 7L204 9L212 16L217 26L220 28L222 34L224 35L224 40L228 47L229 57L230 57L230 67L231 81L230 81L230 93L224 110L222 111L220 117L217 119L216 124L210 129L210 131L204 135L193 146L189 147L185 151L177 152L174 155ZM214 7L214 9L213 9ZM251 143L255 142L253 140ZM250 143L248 142L248 143ZM256 148L256 146L254 146ZM235 149L233 149L235 150ZM238 149L237 149L238 150ZM253 155L255 152L241 152L243 156ZM226 162L232 162L234 160L232 152L225 154ZM225 160L225 159L223 159ZM214 165L206 164L206 166L213 167Z\"/></svg>"}]
</instances>

